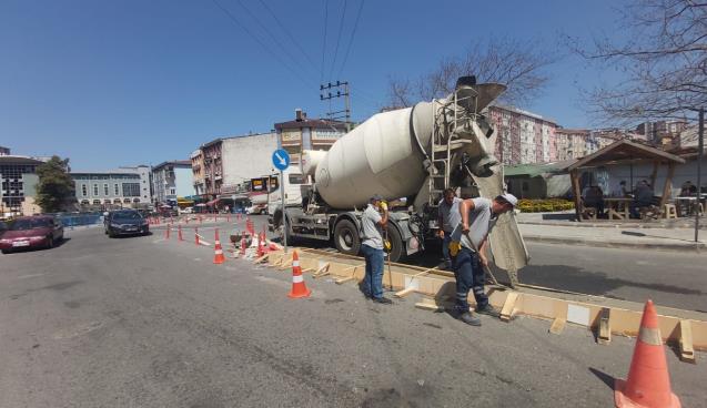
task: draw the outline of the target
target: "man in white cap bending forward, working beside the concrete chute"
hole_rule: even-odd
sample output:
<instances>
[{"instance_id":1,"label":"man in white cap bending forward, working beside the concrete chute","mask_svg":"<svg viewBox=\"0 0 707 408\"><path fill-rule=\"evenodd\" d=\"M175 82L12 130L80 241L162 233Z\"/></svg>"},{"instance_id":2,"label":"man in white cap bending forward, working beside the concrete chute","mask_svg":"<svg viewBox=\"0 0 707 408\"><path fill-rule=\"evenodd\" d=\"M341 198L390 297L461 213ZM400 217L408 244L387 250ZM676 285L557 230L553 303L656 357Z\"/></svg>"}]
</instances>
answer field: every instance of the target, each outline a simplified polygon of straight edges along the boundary
<instances>
[{"instance_id":1,"label":"man in white cap bending forward, working beside the concrete chute","mask_svg":"<svg viewBox=\"0 0 707 408\"><path fill-rule=\"evenodd\" d=\"M496 198L484 197L464 200L459 205L462 216L461 249L456 255L454 276L456 278L456 305L458 319L472 325L481 326L478 317L468 310L468 293L473 289L476 299L476 313L498 317L499 314L488 304L488 296L484 292L485 268L488 266L486 247L488 233L496 224L498 216L512 211L518 200L511 193L498 195Z\"/></svg>"}]
</instances>

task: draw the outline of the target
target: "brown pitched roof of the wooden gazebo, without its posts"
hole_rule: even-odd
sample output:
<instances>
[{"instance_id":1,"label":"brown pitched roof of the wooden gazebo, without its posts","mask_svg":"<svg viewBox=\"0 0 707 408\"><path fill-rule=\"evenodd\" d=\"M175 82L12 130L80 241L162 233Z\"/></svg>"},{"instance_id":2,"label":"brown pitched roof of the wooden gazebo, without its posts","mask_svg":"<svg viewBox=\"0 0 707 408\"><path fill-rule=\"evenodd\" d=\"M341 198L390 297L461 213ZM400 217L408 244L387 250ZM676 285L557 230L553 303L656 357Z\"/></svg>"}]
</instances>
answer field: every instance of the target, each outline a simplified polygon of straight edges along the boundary
<instances>
[{"instance_id":1,"label":"brown pitched roof of the wooden gazebo, without its posts","mask_svg":"<svg viewBox=\"0 0 707 408\"><path fill-rule=\"evenodd\" d=\"M683 157L676 156L675 154L628 140L620 140L604 149L599 149L588 156L579 159L576 163L568 166L567 170L574 171L580 167L596 167L634 160L685 163Z\"/></svg>"}]
</instances>

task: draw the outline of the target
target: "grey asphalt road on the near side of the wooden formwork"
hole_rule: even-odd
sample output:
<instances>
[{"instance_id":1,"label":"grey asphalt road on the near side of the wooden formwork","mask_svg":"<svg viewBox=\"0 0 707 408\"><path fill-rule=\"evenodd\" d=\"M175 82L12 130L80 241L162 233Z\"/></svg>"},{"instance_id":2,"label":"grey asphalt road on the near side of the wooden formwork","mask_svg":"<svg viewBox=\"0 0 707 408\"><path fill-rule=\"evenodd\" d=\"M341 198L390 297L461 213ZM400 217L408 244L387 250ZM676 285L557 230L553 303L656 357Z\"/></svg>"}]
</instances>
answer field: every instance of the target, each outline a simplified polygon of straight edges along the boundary
<instances>
[{"instance_id":1,"label":"grey asphalt road on the near side of the wooden formwork","mask_svg":"<svg viewBox=\"0 0 707 408\"><path fill-rule=\"evenodd\" d=\"M293 300L289 272L213 265L174 235L67 236L0 255L2 407L607 407L628 371L628 338L468 327L309 276ZM667 358L683 406L707 406L705 355Z\"/></svg>"}]
</instances>

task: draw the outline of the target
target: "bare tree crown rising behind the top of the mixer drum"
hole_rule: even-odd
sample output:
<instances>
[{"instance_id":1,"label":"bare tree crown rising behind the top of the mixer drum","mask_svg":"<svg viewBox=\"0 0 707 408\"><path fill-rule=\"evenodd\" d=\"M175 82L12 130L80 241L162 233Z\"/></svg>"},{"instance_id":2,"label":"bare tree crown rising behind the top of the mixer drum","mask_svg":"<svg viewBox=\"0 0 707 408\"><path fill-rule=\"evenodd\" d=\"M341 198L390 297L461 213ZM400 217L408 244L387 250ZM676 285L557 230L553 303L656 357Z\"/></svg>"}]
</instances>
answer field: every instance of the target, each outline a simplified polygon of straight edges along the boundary
<instances>
[{"instance_id":1,"label":"bare tree crown rising behind the top of the mixer drum","mask_svg":"<svg viewBox=\"0 0 707 408\"><path fill-rule=\"evenodd\" d=\"M436 69L416 81L388 78L388 103L410 106L416 101L444 98L454 91L459 76L476 75L476 81L507 86L498 100L523 105L539 95L548 76L543 69L553 62L535 42L492 38L473 42L461 57L440 61Z\"/></svg>"}]
</instances>

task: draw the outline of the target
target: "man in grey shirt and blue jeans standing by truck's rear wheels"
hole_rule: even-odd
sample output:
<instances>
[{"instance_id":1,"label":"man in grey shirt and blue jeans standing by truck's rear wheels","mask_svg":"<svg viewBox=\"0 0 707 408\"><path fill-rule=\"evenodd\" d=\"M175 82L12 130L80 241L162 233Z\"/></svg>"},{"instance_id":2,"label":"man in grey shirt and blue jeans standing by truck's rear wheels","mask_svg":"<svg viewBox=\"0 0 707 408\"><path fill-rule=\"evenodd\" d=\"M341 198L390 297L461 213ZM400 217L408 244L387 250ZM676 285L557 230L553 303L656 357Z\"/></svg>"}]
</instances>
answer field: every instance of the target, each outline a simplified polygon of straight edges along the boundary
<instances>
[{"instance_id":1,"label":"man in grey shirt and blue jeans standing by truck's rear wheels","mask_svg":"<svg viewBox=\"0 0 707 408\"><path fill-rule=\"evenodd\" d=\"M383 215L381 215L383 213ZM366 259L366 275L361 290L366 298L375 303L390 305L393 302L383 297L383 228L387 225L387 205L383 197L375 194L361 217L363 242L361 251Z\"/></svg>"}]
</instances>

